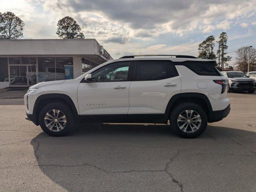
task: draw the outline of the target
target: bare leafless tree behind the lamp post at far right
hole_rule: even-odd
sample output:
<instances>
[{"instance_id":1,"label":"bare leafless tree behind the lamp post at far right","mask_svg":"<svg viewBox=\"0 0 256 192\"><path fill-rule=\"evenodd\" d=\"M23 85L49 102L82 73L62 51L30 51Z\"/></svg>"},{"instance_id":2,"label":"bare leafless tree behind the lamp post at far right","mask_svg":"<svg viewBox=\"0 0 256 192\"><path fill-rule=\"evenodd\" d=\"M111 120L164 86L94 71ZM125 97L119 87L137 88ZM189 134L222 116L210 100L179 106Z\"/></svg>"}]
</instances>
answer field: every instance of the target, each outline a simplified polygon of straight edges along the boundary
<instances>
[{"instance_id":1,"label":"bare leafless tree behind the lamp post at far right","mask_svg":"<svg viewBox=\"0 0 256 192\"><path fill-rule=\"evenodd\" d=\"M240 47L236 51L236 64L238 65L238 70L247 71L248 58L249 58L248 47ZM256 70L256 49L253 47L250 48L250 70Z\"/></svg>"}]
</instances>

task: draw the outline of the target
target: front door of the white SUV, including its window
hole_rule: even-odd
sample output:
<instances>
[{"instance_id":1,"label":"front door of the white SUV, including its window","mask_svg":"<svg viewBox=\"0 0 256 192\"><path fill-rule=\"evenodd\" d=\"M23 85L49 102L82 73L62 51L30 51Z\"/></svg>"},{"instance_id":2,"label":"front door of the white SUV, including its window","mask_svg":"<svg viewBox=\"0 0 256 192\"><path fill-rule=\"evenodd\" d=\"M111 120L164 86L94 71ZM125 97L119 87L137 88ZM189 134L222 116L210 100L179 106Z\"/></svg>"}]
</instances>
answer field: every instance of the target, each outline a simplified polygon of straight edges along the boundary
<instances>
[{"instance_id":1,"label":"front door of the white SUV, including its window","mask_svg":"<svg viewBox=\"0 0 256 192\"><path fill-rule=\"evenodd\" d=\"M115 62L92 72L92 82L78 86L81 115L127 114L132 62Z\"/></svg>"}]
</instances>

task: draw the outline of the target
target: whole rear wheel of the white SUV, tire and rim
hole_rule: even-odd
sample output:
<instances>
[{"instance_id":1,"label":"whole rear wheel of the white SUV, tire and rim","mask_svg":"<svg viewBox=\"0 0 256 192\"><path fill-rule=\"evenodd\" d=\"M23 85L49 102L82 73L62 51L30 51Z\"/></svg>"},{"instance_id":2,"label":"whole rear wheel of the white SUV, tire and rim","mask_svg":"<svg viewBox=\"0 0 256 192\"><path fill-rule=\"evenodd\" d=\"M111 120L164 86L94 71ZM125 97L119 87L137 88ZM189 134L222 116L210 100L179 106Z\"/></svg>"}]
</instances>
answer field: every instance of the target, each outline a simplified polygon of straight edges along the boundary
<instances>
[{"instance_id":1,"label":"whole rear wheel of the white SUV, tire and rim","mask_svg":"<svg viewBox=\"0 0 256 192\"><path fill-rule=\"evenodd\" d=\"M186 110L188 113L186 112ZM193 110L192 116L191 116L191 110ZM184 118L181 118L181 116L187 117L185 116L185 114L188 114L188 118L187 118L188 121ZM199 117L195 118L198 115ZM193 119L193 122L191 121L192 119ZM185 124L184 127L182 127L183 122ZM172 113L170 114L171 128L176 134L178 134L182 138L196 138L200 136L206 129L207 122L208 122L208 118L207 118L206 112L202 107L200 107L195 103L186 102L186 103L179 104L172 110Z\"/></svg>"}]
</instances>

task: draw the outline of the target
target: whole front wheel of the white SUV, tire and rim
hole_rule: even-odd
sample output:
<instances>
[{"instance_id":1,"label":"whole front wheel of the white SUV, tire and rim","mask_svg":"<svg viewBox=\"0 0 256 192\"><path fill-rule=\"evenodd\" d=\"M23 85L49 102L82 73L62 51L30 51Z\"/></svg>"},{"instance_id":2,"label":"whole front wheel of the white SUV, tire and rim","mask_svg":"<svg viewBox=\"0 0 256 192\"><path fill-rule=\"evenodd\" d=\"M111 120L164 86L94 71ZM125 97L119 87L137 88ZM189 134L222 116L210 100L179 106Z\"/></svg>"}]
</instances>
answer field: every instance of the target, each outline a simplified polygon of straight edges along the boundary
<instances>
[{"instance_id":1,"label":"whole front wheel of the white SUV, tire and rim","mask_svg":"<svg viewBox=\"0 0 256 192\"><path fill-rule=\"evenodd\" d=\"M52 118L54 111L55 115L58 115L58 118ZM50 124L50 122L52 123ZM39 124L42 130L50 136L64 136L76 126L74 124L74 115L71 108L59 102L47 104L41 110L39 114Z\"/></svg>"}]
</instances>

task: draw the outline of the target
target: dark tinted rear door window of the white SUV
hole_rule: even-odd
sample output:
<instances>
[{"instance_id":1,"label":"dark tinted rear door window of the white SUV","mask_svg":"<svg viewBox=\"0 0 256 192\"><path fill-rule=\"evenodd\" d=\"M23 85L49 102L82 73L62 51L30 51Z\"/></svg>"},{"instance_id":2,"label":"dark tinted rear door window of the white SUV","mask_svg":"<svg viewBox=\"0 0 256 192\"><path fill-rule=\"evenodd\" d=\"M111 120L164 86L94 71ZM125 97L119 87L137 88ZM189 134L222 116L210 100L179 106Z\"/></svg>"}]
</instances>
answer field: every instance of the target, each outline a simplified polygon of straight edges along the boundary
<instances>
[{"instance_id":1,"label":"dark tinted rear door window of the white SUV","mask_svg":"<svg viewBox=\"0 0 256 192\"><path fill-rule=\"evenodd\" d=\"M160 80L178 76L178 72L169 61L145 60L137 61L136 81Z\"/></svg>"}]
</instances>

